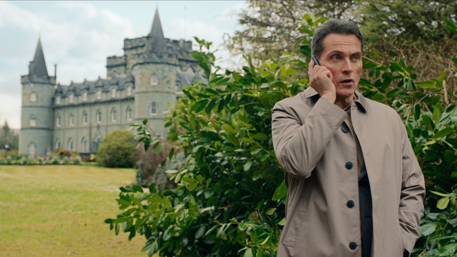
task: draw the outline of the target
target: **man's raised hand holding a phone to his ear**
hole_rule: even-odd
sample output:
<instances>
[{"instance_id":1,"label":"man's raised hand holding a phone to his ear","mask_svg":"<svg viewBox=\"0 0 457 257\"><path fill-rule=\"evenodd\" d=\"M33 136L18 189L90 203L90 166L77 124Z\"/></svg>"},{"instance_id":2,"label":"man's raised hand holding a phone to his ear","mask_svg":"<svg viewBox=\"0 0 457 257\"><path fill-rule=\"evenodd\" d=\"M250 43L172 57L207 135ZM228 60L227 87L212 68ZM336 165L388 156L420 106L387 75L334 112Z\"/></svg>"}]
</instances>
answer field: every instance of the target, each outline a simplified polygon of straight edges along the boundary
<instances>
[{"instance_id":1,"label":"man's raised hand holding a phone to his ear","mask_svg":"<svg viewBox=\"0 0 457 257\"><path fill-rule=\"evenodd\" d=\"M333 84L333 75L329 69L321 66L319 62L316 64L314 60L317 61L313 56L313 60L309 63L309 85L319 93L320 97L335 103L336 87Z\"/></svg>"}]
</instances>

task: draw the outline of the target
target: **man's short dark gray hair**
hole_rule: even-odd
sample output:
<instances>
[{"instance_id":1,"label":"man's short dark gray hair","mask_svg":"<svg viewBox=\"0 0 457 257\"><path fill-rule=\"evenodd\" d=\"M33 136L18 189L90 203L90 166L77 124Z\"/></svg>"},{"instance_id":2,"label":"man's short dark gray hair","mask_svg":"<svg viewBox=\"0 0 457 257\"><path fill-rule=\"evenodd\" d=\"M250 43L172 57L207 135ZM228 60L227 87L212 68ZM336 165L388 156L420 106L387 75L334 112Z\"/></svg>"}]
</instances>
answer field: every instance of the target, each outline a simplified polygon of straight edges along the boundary
<instances>
[{"instance_id":1,"label":"man's short dark gray hair","mask_svg":"<svg viewBox=\"0 0 457 257\"><path fill-rule=\"evenodd\" d=\"M324 50L324 37L331 33L355 35L360 41L361 50L363 50L363 37L356 23L353 21L332 19L325 21L314 32L313 40L311 41L311 54L314 55L317 59L319 59L322 51Z\"/></svg>"}]
</instances>

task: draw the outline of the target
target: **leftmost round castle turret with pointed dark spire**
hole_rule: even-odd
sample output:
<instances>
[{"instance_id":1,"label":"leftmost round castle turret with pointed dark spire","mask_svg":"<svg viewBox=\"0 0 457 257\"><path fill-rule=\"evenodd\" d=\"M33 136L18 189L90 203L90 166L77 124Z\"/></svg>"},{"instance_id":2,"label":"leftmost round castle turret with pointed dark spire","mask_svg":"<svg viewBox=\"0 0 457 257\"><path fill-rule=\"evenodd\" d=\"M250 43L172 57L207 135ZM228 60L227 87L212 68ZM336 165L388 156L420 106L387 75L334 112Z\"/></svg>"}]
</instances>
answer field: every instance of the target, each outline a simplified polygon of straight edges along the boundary
<instances>
[{"instance_id":1,"label":"leftmost round castle turret with pointed dark spire","mask_svg":"<svg viewBox=\"0 0 457 257\"><path fill-rule=\"evenodd\" d=\"M41 39L29 74L21 76L22 108L19 153L46 155L52 150L53 96L56 77L48 75Z\"/></svg>"}]
</instances>

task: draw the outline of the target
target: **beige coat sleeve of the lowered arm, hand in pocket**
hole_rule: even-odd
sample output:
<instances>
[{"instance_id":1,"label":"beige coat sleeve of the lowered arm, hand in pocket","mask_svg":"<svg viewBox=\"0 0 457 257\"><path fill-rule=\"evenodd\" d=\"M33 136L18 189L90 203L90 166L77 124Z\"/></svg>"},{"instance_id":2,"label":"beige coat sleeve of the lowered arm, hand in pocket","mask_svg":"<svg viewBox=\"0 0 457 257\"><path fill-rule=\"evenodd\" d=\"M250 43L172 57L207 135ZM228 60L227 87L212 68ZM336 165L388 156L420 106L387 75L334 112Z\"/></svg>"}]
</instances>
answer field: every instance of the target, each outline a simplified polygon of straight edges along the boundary
<instances>
[{"instance_id":1,"label":"beige coat sleeve of the lowered arm, hand in pocket","mask_svg":"<svg viewBox=\"0 0 457 257\"><path fill-rule=\"evenodd\" d=\"M419 237L419 221L424 215L425 183L404 124L399 119L403 146L399 222L403 246L410 253Z\"/></svg>"}]
</instances>

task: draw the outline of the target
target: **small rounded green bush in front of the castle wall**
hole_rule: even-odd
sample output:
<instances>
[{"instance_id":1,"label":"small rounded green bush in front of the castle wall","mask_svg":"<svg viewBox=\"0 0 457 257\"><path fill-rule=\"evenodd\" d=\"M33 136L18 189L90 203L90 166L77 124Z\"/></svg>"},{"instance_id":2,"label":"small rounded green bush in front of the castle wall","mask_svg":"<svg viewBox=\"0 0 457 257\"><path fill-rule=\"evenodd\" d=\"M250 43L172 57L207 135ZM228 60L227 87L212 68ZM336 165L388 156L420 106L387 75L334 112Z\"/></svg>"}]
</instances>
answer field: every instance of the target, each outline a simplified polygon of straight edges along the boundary
<instances>
[{"instance_id":1,"label":"small rounded green bush in front of the castle wall","mask_svg":"<svg viewBox=\"0 0 457 257\"><path fill-rule=\"evenodd\" d=\"M107 134L97 150L97 164L105 167L131 168L134 165L135 139L127 130L117 129Z\"/></svg>"}]
</instances>

